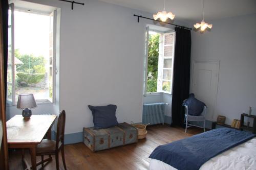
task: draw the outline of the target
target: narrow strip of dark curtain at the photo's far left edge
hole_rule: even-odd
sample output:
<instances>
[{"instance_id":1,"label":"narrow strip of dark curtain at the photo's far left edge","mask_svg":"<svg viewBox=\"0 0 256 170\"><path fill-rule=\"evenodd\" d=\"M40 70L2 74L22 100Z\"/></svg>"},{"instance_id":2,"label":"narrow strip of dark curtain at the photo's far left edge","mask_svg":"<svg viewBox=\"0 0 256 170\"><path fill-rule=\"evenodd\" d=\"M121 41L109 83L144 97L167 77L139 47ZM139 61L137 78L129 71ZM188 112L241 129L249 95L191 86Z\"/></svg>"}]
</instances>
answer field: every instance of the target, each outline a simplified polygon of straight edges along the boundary
<instances>
[{"instance_id":1,"label":"narrow strip of dark curtain at the photo's far left edge","mask_svg":"<svg viewBox=\"0 0 256 170\"><path fill-rule=\"evenodd\" d=\"M7 94L7 60L8 60L8 0L2 2L2 21L3 21L3 46L4 46L4 76L5 76L5 93ZM6 95L5 95L6 96Z\"/></svg>"}]
</instances>

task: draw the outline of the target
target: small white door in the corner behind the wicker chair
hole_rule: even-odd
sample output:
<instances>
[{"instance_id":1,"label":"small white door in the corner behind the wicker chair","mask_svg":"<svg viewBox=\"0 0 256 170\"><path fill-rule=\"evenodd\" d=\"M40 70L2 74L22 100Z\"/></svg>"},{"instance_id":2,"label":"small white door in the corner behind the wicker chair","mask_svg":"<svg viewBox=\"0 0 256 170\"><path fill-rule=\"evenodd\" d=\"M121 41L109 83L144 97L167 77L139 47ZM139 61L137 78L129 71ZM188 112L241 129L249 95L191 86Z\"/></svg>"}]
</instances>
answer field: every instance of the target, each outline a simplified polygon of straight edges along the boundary
<instances>
[{"instance_id":1,"label":"small white door in the corner behind the wicker chair","mask_svg":"<svg viewBox=\"0 0 256 170\"><path fill-rule=\"evenodd\" d=\"M191 92L207 106L206 119L215 121L219 61L194 61Z\"/></svg>"}]
</instances>

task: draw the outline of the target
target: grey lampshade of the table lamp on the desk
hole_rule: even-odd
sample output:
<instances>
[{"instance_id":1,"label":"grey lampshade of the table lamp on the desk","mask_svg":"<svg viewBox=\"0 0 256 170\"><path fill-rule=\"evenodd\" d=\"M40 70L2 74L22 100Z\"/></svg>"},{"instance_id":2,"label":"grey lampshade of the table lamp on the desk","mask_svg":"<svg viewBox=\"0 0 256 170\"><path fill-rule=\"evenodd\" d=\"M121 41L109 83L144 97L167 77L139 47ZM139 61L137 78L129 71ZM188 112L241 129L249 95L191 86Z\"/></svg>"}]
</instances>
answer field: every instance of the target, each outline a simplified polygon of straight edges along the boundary
<instances>
[{"instance_id":1,"label":"grey lampshade of the table lamp on the desk","mask_svg":"<svg viewBox=\"0 0 256 170\"><path fill-rule=\"evenodd\" d=\"M18 109L26 109L36 107L34 95L31 93L24 93L18 95Z\"/></svg>"}]
</instances>

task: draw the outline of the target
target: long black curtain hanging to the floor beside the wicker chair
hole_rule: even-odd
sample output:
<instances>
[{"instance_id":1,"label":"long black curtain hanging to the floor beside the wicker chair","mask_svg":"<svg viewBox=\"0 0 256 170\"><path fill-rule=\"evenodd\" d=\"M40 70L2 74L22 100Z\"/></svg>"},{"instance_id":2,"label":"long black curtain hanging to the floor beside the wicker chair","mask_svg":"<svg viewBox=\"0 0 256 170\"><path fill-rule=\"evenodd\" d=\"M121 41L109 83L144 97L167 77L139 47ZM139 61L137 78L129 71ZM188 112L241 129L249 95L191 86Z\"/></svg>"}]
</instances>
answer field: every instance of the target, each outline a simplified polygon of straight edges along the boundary
<instances>
[{"instance_id":1,"label":"long black curtain hanging to the floor beside the wicker chair","mask_svg":"<svg viewBox=\"0 0 256 170\"><path fill-rule=\"evenodd\" d=\"M172 125L184 127L184 109L181 105L189 94L191 34L190 30L183 28L175 28L175 32Z\"/></svg>"}]
</instances>

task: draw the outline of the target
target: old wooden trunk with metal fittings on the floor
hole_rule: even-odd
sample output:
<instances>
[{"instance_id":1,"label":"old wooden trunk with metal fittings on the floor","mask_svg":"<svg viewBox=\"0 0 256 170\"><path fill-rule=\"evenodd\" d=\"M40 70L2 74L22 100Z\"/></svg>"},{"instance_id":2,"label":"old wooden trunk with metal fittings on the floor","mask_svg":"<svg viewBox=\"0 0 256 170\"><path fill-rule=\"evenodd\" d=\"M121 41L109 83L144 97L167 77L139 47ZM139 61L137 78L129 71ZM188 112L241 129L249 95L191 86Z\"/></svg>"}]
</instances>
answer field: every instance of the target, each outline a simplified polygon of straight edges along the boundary
<instances>
[{"instance_id":1,"label":"old wooden trunk with metal fittings on the floor","mask_svg":"<svg viewBox=\"0 0 256 170\"><path fill-rule=\"evenodd\" d=\"M138 130L122 123L106 129L83 128L83 143L95 152L138 141Z\"/></svg>"}]
</instances>

